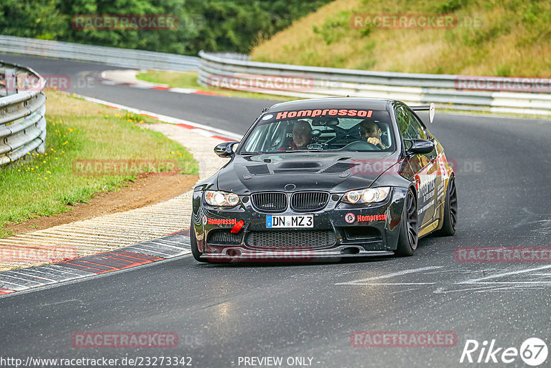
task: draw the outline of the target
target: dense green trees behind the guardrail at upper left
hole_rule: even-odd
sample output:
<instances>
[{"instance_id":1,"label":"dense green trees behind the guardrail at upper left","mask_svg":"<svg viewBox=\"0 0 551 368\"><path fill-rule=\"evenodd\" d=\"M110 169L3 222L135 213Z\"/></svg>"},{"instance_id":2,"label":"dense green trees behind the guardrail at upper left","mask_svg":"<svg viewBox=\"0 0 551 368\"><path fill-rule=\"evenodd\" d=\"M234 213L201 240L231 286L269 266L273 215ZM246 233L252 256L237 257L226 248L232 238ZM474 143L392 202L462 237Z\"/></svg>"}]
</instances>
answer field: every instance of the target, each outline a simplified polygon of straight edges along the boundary
<instances>
[{"instance_id":1,"label":"dense green trees behind the guardrail at upper left","mask_svg":"<svg viewBox=\"0 0 551 368\"><path fill-rule=\"evenodd\" d=\"M177 54L249 52L330 0L1 0L0 34ZM79 14L174 14L176 30L77 30Z\"/></svg>"}]
</instances>

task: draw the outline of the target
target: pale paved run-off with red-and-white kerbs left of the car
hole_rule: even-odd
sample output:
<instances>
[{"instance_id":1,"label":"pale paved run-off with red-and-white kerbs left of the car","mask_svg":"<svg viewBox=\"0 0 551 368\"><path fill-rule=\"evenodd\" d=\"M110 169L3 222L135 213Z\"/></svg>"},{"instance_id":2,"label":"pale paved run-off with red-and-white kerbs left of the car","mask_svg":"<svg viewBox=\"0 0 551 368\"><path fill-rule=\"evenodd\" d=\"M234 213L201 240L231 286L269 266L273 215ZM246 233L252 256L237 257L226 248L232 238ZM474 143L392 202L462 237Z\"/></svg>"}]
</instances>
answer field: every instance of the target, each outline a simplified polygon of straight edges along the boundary
<instances>
[{"instance_id":1,"label":"pale paved run-off with red-and-white kerbs left of the car","mask_svg":"<svg viewBox=\"0 0 551 368\"><path fill-rule=\"evenodd\" d=\"M241 137L171 116L157 115L86 96L78 97L168 122L147 125L147 128L178 141L196 157L199 162L199 181L212 176L227 163L227 160L213 154L214 145L221 140L240 140ZM44 260L40 263L0 263L0 269L8 269L0 272L0 296L191 253L189 229L182 229L189 226L191 221L192 193L193 190L189 190L163 203L1 239L0 247L3 249L36 249L44 246L46 249L55 249L56 246L66 249L70 245L76 249L79 257L50 265L42 265ZM144 221L152 225L158 223L158 226L148 225L145 228ZM121 229L125 229L124 234L121 234ZM83 234L84 230L88 230L87 234ZM168 233L171 234L162 236Z\"/></svg>"}]
</instances>

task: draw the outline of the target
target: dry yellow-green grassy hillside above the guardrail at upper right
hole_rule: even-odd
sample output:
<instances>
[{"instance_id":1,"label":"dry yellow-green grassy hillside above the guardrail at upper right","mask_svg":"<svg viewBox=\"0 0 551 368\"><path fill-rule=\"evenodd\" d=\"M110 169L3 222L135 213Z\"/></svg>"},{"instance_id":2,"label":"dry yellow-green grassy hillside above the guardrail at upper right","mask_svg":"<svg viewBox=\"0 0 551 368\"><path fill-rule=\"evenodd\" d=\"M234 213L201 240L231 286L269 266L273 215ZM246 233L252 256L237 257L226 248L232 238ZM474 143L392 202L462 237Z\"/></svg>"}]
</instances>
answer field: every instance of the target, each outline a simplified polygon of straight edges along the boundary
<instances>
[{"instance_id":1,"label":"dry yellow-green grassy hillside above the guardrail at upper right","mask_svg":"<svg viewBox=\"0 0 551 368\"><path fill-rule=\"evenodd\" d=\"M446 14L446 30L353 29L353 14ZM479 21L473 27L464 22ZM336 0L253 49L255 61L334 68L551 76L551 2Z\"/></svg>"}]
</instances>

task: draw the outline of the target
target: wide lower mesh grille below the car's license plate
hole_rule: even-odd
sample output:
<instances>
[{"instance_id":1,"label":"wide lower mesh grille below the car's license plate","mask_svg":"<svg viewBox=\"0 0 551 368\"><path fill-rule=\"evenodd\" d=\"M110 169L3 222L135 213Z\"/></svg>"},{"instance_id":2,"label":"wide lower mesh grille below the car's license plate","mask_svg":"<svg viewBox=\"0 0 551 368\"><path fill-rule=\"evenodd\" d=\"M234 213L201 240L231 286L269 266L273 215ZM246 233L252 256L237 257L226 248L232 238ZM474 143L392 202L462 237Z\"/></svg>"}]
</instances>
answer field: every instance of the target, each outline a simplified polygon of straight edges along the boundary
<instances>
[{"instance_id":1,"label":"wide lower mesh grille below the car's license plate","mask_svg":"<svg viewBox=\"0 0 551 368\"><path fill-rule=\"evenodd\" d=\"M331 247L335 244L332 230L281 230L272 232L249 232L245 244L254 248L312 249Z\"/></svg>"}]
</instances>

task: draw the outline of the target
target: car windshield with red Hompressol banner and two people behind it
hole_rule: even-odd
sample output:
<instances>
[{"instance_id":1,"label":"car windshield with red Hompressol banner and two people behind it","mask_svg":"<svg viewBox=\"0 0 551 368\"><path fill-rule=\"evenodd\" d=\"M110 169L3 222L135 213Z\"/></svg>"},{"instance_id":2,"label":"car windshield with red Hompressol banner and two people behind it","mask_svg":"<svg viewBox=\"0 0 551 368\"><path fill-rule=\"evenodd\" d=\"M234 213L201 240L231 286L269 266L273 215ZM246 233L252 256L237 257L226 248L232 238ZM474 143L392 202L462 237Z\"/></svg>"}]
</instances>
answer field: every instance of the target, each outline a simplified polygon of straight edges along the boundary
<instances>
[{"instance_id":1,"label":"car windshield with red Hompressol banner and two people behind it","mask_svg":"<svg viewBox=\"0 0 551 368\"><path fill-rule=\"evenodd\" d=\"M240 154L296 151L394 151L385 110L298 110L264 114Z\"/></svg>"}]
</instances>

